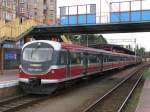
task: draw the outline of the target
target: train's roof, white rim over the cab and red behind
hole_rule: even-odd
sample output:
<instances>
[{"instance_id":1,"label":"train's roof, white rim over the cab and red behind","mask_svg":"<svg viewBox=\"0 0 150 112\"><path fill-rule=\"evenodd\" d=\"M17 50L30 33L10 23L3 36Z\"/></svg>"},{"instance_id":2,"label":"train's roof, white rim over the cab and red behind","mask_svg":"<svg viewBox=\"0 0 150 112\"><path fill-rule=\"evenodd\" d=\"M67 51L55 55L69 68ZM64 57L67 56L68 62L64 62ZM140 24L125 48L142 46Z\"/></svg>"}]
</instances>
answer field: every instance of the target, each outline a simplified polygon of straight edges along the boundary
<instances>
[{"instance_id":1,"label":"train's roof, white rim over the cab and red behind","mask_svg":"<svg viewBox=\"0 0 150 112\"><path fill-rule=\"evenodd\" d=\"M128 54L123 54L123 53L117 53L117 52L111 52L111 51L106 51L106 50L102 50L102 49L95 49L95 48L90 48L90 47L84 47L84 46L80 46L80 45L76 45L76 44L66 44L66 43L60 43L60 42L56 42L56 41L50 41L50 40L35 40L32 42L27 42L24 46L26 47L29 44L32 43L36 43L36 42L44 42L44 43L48 43L50 44L54 50L59 51L61 49L70 49L70 50L76 50L76 51L87 51L87 52L101 52L102 54L111 54L111 55L122 55L122 56L133 56L134 55L128 55ZM22 48L22 49L23 49Z\"/></svg>"}]
</instances>

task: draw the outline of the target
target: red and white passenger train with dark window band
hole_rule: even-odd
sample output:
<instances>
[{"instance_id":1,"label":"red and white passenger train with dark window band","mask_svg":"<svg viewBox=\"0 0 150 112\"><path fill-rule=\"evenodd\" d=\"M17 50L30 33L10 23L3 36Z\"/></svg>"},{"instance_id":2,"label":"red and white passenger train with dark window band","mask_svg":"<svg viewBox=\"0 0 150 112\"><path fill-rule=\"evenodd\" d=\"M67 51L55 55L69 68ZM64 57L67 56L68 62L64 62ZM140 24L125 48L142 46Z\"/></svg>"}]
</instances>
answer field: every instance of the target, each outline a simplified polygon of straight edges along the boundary
<instances>
[{"instance_id":1,"label":"red and white passenger train with dark window band","mask_svg":"<svg viewBox=\"0 0 150 112\"><path fill-rule=\"evenodd\" d=\"M140 61L133 55L37 40L22 48L19 85L26 93L50 94L65 82Z\"/></svg>"}]
</instances>

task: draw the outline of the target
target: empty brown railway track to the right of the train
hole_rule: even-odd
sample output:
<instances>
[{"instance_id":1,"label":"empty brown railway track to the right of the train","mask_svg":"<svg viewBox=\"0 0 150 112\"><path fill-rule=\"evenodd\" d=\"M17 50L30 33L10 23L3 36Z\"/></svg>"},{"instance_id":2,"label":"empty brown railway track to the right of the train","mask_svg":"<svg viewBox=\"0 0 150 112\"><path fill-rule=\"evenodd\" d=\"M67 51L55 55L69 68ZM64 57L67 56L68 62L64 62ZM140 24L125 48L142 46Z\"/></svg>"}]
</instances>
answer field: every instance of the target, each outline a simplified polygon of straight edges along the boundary
<instances>
[{"instance_id":1,"label":"empty brown railway track to the right of the train","mask_svg":"<svg viewBox=\"0 0 150 112\"><path fill-rule=\"evenodd\" d=\"M142 79L142 73L146 68L147 66L143 66L140 70L132 72L131 75L98 98L82 112L121 112Z\"/></svg>"}]
</instances>

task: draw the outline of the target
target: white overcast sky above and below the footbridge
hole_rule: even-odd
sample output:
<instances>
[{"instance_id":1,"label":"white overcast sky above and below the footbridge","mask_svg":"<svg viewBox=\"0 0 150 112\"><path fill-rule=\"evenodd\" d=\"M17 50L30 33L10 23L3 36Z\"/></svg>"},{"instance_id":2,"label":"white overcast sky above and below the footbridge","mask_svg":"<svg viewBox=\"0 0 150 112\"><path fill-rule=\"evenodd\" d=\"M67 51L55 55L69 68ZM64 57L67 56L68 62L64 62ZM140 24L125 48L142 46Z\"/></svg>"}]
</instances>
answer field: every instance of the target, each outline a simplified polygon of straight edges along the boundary
<instances>
[{"instance_id":1,"label":"white overcast sky above and below the footbridge","mask_svg":"<svg viewBox=\"0 0 150 112\"><path fill-rule=\"evenodd\" d=\"M118 1L124 1L124 0L101 0L102 6L101 6L101 14L103 17L103 22L107 22L108 20L106 18L109 17L109 3L110 2L118 2ZM127 0L125 0L127 1ZM96 12L99 16L100 12L100 0L57 0L57 15L59 15L59 7L60 6L71 6L71 5L83 5L83 4L96 4ZM148 9L150 4L150 0L146 0L146 2L143 3L143 8ZM119 8L118 4L112 5L112 10L117 11ZM128 10L129 9L129 3L122 3L121 4L121 10ZM138 10L140 9L140 3L134 2L132 3L132 10ZM149 8L150 9L150 8ZM70 9L71 10L71 9ZM82 8L81 8L82 10ZM98 21L98 20L97 20ZM150 33L149 32L143 32L143 33L116 33L116 34L103 34L103 36L109 41L110 39L119 39L118 43L115 42L115 44L131 44L133 47L135 45L132 40L136 38L136 43L139 46L142 46L146 49L146 51L150 51ZM131 42L121 42L120 39L129 39Z\"/></svg>"}]
</instances>

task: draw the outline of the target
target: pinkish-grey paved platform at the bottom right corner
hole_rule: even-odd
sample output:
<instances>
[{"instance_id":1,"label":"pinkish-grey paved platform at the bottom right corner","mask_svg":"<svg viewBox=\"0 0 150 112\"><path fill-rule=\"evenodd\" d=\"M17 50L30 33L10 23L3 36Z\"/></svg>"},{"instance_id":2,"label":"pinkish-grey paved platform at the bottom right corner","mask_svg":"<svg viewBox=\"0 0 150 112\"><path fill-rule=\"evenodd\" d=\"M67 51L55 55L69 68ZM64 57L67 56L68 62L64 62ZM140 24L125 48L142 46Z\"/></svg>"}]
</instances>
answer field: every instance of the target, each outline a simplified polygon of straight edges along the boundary
<instances>
[{"instance_id":1,"label":"pinkish-grey paved platform at the bottom right corner","mask_svg":"<svg viewBox=\"0 0 150 112\"><path fill-rule=\"evenodd\" d=\"M148 78L145 81L140 102L136 109L136 112L150 112L150 69Z\"/></svg>"}]
</instances>

